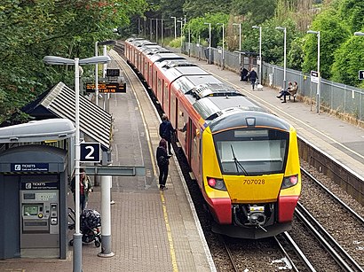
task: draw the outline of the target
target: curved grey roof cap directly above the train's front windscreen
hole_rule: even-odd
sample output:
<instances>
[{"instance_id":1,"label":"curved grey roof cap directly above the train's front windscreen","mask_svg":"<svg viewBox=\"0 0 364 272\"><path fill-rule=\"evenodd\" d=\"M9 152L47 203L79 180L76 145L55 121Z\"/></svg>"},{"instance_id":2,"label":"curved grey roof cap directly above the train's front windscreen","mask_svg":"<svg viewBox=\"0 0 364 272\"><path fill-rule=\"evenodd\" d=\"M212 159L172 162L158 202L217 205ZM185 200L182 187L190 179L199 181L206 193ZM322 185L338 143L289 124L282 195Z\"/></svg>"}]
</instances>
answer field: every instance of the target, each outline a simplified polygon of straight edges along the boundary
<instances>
[{"instance_id":1,"label":"curved grey roof cap directly above the train's front windscreen","mask_svg":"<svg viewBox=\"0 0 364 272\"><path fill-rule=\"evenodd\" d=\"M268 127L289 131L289 123L271 113L246 111L242 108L226 109L225 113L209 124L212 133L240 127Z\"/></svg>"}]
</instances>

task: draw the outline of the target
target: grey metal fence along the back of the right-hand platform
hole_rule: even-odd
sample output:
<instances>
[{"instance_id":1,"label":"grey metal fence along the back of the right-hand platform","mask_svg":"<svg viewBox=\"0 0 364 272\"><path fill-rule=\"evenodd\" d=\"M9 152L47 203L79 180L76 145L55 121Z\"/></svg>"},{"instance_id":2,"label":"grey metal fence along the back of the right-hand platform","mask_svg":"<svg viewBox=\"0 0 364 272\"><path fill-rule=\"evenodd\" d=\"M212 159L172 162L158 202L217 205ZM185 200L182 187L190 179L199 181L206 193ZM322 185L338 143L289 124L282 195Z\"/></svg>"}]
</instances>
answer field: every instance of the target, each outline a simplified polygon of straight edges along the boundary
<instances>
[{"instance_id":1,"label":"grey metal fence along the back of the right-hand platform","mask_svg":"<svg viewBox=\"0 0 364 272\"><path fill-rule=\"evenodd\" d=\"M173 50L173 49L171 49ZM217 48L203 47L195 43L183 43L181 49L174 49L183 52L191 57L210 61L211 64L218 66L223 65L222 50ZM210 55L211 52L211 55ZM257 61L249 61L249 58L240 52L224 51L224 67L236 73L240 72L240 67L255 66L257 70ZM210 57L210 58L209 58ZM262 83L271 88L281 89L283 85L284 70L281 66L274 66L263 62L262 66ZM300 71L286 69L286 81L297 82L297 94L301 97L311 99L316 106L317 83L311 82L311 75L304 74ZM364 90L349 85L331 82L321 79L320 84L320 107L335 111L336 113L346 113L352 115L357 120L364 120ZM318 110L318 109L317 109Z\"/></svg>"}]
</instances>

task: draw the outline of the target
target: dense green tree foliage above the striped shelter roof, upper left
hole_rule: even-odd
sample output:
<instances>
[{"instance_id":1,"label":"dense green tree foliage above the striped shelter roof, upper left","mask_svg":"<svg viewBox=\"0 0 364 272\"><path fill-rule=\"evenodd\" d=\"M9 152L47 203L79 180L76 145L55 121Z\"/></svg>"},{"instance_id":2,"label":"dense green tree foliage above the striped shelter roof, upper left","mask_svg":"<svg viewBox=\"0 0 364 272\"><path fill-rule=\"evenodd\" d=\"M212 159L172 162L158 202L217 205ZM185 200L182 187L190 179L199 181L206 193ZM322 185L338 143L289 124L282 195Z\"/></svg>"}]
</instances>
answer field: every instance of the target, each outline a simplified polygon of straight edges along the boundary
<instances>
[{"instance_id":1,"label":"dense green tree foliage above the striped shelter roof, upper left","mask_svg":"<svg viewBox=\"0 0 364 272\"><path fill-rule=\"evenodd\" d=\"M2 0L0 4L0 120L12 116L48 86L74 82L72 68L44 66L46 55L89 58L96 41L144 12L144 0ZM85 74L93 67L84 67Z\"/></svg>"}]
</instances>

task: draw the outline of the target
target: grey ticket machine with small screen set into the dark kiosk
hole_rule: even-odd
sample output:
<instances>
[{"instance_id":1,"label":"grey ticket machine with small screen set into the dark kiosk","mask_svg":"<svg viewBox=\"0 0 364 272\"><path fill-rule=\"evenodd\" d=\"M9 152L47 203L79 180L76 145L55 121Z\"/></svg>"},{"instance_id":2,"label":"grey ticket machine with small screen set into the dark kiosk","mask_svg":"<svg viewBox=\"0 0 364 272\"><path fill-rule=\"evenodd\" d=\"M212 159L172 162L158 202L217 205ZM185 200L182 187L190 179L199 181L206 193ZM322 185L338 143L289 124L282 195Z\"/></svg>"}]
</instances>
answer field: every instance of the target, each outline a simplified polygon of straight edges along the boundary
<instances>
[{"instance_id":1,"label":"grey ticket machine with small screen set into the dark kiosk","mask_svg":"<svg viewBox=\"0 0 364 272\"><path fill-rule=\"evenodd\" d=\"M56 182L22 182L20 254L59 257L59 190Z\"/></svg>"}]
</instances>

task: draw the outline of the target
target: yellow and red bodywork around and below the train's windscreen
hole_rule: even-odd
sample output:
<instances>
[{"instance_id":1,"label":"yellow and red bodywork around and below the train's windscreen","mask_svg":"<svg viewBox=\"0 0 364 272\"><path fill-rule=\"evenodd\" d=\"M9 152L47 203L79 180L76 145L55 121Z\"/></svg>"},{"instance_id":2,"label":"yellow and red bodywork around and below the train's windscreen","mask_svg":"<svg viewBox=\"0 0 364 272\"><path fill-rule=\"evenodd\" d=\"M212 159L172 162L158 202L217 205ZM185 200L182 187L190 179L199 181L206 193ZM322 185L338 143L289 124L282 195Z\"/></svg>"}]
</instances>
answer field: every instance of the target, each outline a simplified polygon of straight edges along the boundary
<instances>
[{"instance_id":1,"label":"yellow and red bodywork around and below the train's windscreen","mask_svg":"<svg viewBox=\"0 0 364 272\"><path fill-rule=\"evenodd\" d=\"M286 135L289 143L287 159L281 171L249 175L249 167L244 167L239 160L251 143L241 150L233 142L221 143L219 152L225 148L225 154L220 154L218 159L210 128L205 129L202 135L202 194L216 222L212 228L214 232L256 239L272 237L291 228L301 191L301 175L296 130L290 128ZM260 145L263 146L263 142ZM258 153L257 146L250 152ZM238 161L234 162L232 158ZM220 161L224 159L231 161L224 164L225 167L234 167L241 173L222 173ZM248 173L242 173L245 171Z\"/></svg>"}]
</instances>

